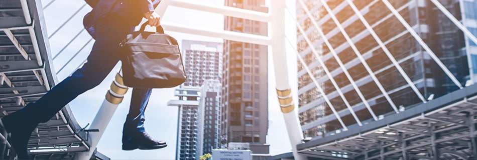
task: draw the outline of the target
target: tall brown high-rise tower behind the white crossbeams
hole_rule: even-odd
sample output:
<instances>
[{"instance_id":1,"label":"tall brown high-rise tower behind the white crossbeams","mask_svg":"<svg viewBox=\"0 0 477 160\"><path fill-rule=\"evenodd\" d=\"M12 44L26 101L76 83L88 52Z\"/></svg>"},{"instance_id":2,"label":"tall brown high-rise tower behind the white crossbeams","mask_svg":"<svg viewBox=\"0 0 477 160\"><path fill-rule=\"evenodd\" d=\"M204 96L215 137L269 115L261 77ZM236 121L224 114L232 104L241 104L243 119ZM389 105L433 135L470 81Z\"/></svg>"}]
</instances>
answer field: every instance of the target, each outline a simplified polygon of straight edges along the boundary
<instances>
[{"instance_id":1,"label":"tall brown high-rise tower behind the white crossbeams","mask_svg":"<svg viewBox=\"0 0 477 160\"><path fill-rule=\"evenodd\" d=\"M225 5L268 12L266 0L225 0ZM225 30L267 35L267 23L225 17ZM268 77L265 45L224 41L222 142L249 142L254 153L269 153Z\"/></svg>"}]
</instances>

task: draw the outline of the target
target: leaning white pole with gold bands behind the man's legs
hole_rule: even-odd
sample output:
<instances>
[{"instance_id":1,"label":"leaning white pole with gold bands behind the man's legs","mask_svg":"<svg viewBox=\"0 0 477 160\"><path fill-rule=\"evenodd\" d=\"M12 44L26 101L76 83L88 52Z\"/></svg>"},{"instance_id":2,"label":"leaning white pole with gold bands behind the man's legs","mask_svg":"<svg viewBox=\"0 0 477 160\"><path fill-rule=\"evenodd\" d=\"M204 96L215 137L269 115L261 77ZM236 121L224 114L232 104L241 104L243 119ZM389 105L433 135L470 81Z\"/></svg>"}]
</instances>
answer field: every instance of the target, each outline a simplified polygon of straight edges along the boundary
<instances>
[{"instance_id":1,"label":"leaning white pole with gold bands behind the man's legs","mask_svg":"<svg viewBox=\"0 0 477 160\"><path fill-rule=\"evenodd\" d=\"M128 87L124 85L123 77L120 73L117 73L114 81L111 83L110 89L106 93L106 98L89 126L90 129L99 129L99 131L89 132L89 138L91 138L89 151L78 152L74 159L86 160L91 158L94 150L96 150L99 139L101 139L104 130L106 130L107 124L111 120L117 106L123 101L124 94L126 94L127 91Z\"/></svg>"}]
</instances>

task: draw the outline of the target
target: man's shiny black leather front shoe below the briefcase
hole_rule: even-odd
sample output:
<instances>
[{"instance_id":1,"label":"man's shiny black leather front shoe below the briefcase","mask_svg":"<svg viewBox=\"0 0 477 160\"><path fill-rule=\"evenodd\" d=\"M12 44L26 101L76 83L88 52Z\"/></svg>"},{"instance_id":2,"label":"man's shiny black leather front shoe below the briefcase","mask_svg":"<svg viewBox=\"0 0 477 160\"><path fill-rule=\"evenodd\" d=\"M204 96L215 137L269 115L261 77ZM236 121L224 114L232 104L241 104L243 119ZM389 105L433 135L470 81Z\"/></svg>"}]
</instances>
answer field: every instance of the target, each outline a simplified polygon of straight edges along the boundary
<instances>
[{"instance_id":1,"label":"man's shiny black leather front shoe below the briefcase","mask_svg":"<svg viewBox=\"0 0 477 160\"><path fill-rule=\"evenodd\" d=\"M134 149L159 149L166 147L167 143L165 141L158 141L153 139L147 132L138 132L129 135L123 134L123 150L134 150Z\"/></svg>"}]
</instances>

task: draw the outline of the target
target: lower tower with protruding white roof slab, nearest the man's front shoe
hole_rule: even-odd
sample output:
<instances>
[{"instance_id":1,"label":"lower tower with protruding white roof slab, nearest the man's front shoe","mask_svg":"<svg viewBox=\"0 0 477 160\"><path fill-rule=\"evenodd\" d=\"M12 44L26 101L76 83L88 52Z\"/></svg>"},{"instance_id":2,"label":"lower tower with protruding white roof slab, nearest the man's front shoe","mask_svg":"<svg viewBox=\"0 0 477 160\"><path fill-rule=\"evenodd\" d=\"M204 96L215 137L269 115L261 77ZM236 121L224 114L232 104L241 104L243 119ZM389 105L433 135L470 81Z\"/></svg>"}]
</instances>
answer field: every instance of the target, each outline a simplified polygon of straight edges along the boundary
<instances>
[{"instance_id":1,"label":"lower tower with protruding white roof slab, nearest the man's front shoe","mask_svg":"<svg viewBox=\"0 0 477 160\"><path fill-rule=\"evenodd\" d=\"M200 87L183 86L175 91L178 100L169 100L167 105L178 106L176 159L196 160L197 154L197 109Z\"/></svg>"}]
</instances>

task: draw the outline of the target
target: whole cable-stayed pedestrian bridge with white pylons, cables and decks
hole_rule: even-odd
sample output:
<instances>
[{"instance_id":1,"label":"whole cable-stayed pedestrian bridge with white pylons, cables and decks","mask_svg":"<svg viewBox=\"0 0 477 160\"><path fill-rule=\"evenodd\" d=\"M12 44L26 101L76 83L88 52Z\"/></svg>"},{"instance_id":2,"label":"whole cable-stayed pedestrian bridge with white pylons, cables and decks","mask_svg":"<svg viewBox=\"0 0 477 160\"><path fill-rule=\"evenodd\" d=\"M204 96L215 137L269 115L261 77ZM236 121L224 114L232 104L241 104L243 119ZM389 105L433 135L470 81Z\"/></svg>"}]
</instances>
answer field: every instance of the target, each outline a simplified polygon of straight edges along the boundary
<instances>
[{"instance_id":1,"label":"whole cable-stayed pedestrian bridge with white pylons, cables and decks","mask_svg":"<svg viewBox=\"0 0 477 160\"><path fill-rule=\"evenodd\" d=\"M326 7L327 4L325 0L320 1L321 4L330 11L329 6ZM346 1L349 4L353 4L352 0ZM399 70L405 79L407 86L416 93L415 96L422 100L422 102L406 107L392 105L392 111L382 114L381 116L375 115L371 108L367 108L370 110L370 113L373 114L373 118L361 120L356 117L353 109L350 107L344 109L344 111L335 110L329 101L330 99L328 99L323 88L321 88L319 81L313 76L312 70L307 67L303 58L298 53L296 39L287 36L286 29L292 30L294 32L293 36L300 33L305 34L305 31L300 23L297 22L297 19L293 18L293 27L286 27L287 23L284 17L287 17L289 14L291 14L292 17L295 16L292 11L290 11L293 9L287 8L289 4L286 4L286 0L270 0L271 10L268 13L227 6L206 5L184 0L162 0L161 5L156 8L156 11L164 15L166 8L171 5L225 16L268 22L270 24L269 35L264 36L227 30L209 30L207 28L163 22L164 28L168 31L271 46L274 69L278 70L275 72L276 79L274 79L277 85L277 97L285 118L288 139L292 143L291 147L293 150L292 153L277 155L271 157L271 159L477 159L477 156L475 156L477 155L477 138L475 138L477 135L475 131L477 85L470 82L466 86L463 86L462 82L455 78L447 66L445 66L439 60L439 57L422 41L419 35L407 24L406 20L404 20L401 14L396 11L388 0L382 1L392 11L390 16L395 16L406 27L406 30L418 41L418 44L424 48L426 53L429 54L429 58L437 63L439 69L443 70L444 73L442 75L448 76L450 81L455 84L458 89L434 99L424 97L420 94L414 82L409 79L408 75L400 67L399 61L396 61L393 55L388 54L389 59L393 61L393 66ZM477 43L477 38L463 27L455 17L451 14L449 15L448 11L441 7L437 0L430 1L450 18L465 36ZM51 2L54 2L54 0ZM55 57L52 57L50 53L49 37L43 17L43 8L47 7L51 2L44 5L41 4L41 0L0 1L0 117L23 108L29 102L34 102L58 82L56 79L57 71L51 64L52 59ZM306 7L303 0L297 0L296 5ZM76 16L77 12L78 11L76 11L73 16ZM355 14L360 18L363 16L359 11L356 11ZM313 17L310 10L307 9L305 9L305 15L309 16L310 19ZM331 16L331 18L333 20L336 19L336 17L333 18L333 16ZM68 18L62 26L69 20L71 20L71 17ZM366 19L363 18L361 20L363 23L367 23ZM310 26L314 26L319 30L319 36L322 36L321 39L328 45L330 51L334 50L332 49L333 47L328 44L329 41L323 32L321 32L317 22L311 20L310 23L313 24ZM294 24L297 24L297 26ZM337 28L341 29L341 27L339 24L337 25ZM341 32L346 35L343 30L344 29L341 29ZM367 26L367 30L371 34L374 32L370 26ZM57 30L55 30L53 34L55 34L56 31ZM386 51L386 45L381 41L380 37L375 34L376 33L373 34L374 39L376 39L380 47ZM310 39L304 39L309 46L314 46ZM349 37L346 38L346 40L349 42L348 45L354 46ZM91 39L88 43L90 41ZM298 55L298 60L301 64L304 64L306 73L312 75L310 76L311 81L315 84L314 87L318 88L317 90L321 93L321 97L324 99L323 103L326 102L332 110L332 114L323 117L321 122L337 121L341 129L310 138L303 137L303 126L300 124L297 113L298 108L295 107L296 102L293 100L296 99L297 95L292 93L294 89L292 89L289 84L289 68L287 66L287 55L289 53L286 52L287 48L294 50L291 53L292 56ZM315 54L318 54L313 47L311 48ZM354 51L356 53L359 52L357 49ZM331 51L331 53L336 54L334 51ZM75 55L73 55L72 58L74 58ZM360 57L360 55L361 54L357 56ZM337 55L333 55L333 57L336 58ZM71 59L68 60L68 62L71 61ZM320 61L320 58L316 60ZM365 65L366 61L363 59L360 60ZM337 60L337 62L340 63L340 60ZM324 64L322 61L319 63ZM343 64L339 64L339 66L342 67L345 73L347 72L347 68L343 67ZM64 67L61 67L59 71L63 68ZM331 81L334 81L329 71L326 71L327 66L323 65L322 68L324 68L327 73L326 76L328 76ZM370 75L373 76L373 71L370 71L370 69L368 69L368 71ZM347 75L347 78L350 79L353 85L356 85L349 75ZM121 81L120 76L116 76L115 80ZM378 80L373 80L376 81L378 87L381 85ZM333 82L334 87L337 88L337 92L343 98L344 95L340 92L340 87L335 83L336 82ZM358 94L361 93L357 86L353 86L353 88ZM380 88L380 91L382 91L383 96L389 96L384 88ZM108 95L111 94L109 92ZM108 98L106 101L121 102L121 99L119 99L121 97L109 96ZM111 101L111 99L114 100ZM367 100L365 98L362 98L362 100L364 103L362 108L364 109L366 108ZM387 100L393 103L391 99ZM108 115L113 112L114 110L106 109L98 115ZM356 123L346 124L343 122L341 118L348 114L354 116ZM103 130L106 125L107 123L98 125L102 127L93 128L93 130L82 128L76 122L69 106L65 106L56 116L52 117L50 121L41 123L38 128L34 130L28 143L29 152L36 159L78 159L78 157L84 157L85 155L92 155L96 159L108 159L106 156L95 151L95 144L99 140L100 135L99 137L91 136L94 134L94 131L97 131L94 129ZM0 143L0 158L15 157L15 150L11 149L11 145L8 142L9 135L5 133L3 127L0 127L0 132L0 141L2 142ZM79 154L81 154L81 156Z\"/></svg>"}]
</instances>

